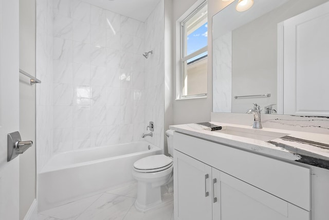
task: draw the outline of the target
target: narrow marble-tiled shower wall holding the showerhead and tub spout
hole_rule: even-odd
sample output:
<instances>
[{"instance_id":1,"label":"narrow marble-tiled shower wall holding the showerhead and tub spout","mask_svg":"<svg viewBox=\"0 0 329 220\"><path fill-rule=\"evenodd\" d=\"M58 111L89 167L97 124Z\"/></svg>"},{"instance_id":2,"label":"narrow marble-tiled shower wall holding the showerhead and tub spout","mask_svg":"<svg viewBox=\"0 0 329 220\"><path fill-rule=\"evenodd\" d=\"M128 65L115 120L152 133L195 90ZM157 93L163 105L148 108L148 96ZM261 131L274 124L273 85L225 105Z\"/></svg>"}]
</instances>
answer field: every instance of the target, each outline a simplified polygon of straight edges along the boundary
<instances>
[{"instance_id":1,"label":"narrow marble-tiled shower wall holding the showerhead and tub spout","mask_svg":"<svg viewBox=\"0 0 329 220\"><path fill-rule=\"evenodd\" d=\"M154 121L153 144L163 148L165 137L165 2L161 0L145 21L145 124ZM142 129L145 129L142 128Z\"/></svg>"}]
</instances>

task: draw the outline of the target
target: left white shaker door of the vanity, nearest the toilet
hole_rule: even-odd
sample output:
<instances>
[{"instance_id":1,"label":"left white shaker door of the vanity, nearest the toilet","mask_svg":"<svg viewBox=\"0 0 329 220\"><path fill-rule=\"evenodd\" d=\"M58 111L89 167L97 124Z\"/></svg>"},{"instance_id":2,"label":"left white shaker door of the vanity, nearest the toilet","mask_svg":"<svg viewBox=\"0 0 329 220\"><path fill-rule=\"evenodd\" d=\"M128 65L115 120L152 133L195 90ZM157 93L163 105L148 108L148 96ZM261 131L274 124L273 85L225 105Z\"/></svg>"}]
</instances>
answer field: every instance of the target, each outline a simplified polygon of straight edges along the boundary
<instances>
[{"instance_id":1,"label":"left white shaker door of the vanity, nearest the toilet","mask_svg":"<svg viewBox=\"0 0 329 220\"><path fill-rule=\"evenodd\" d=\"M174 152L175 220L211 220L211 167Z\"/></svg>"}]
</instances>

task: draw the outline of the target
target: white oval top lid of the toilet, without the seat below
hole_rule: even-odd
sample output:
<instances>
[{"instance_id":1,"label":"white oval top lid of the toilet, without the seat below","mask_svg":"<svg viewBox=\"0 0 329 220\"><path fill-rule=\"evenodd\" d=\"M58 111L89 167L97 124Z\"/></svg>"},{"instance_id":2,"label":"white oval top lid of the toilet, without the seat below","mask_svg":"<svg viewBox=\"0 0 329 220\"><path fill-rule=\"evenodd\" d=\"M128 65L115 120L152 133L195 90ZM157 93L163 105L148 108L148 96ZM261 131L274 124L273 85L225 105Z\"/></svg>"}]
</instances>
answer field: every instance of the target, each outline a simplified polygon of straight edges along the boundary
<instances>
[{"instance_id":1,"label":"white oval top lid of the toilet, without the seat below","mask_svg":"<svg viewBox=\"0 0 329 220\"><path fill-rule=\"evenodd\" d=\"M134 168L138 170L154 170L159 168L165 168L171 163L173 163L173 159L171 157L167 157L163 154L152 155L137 160L134 163Z\"/></svg>"}]
</instances>

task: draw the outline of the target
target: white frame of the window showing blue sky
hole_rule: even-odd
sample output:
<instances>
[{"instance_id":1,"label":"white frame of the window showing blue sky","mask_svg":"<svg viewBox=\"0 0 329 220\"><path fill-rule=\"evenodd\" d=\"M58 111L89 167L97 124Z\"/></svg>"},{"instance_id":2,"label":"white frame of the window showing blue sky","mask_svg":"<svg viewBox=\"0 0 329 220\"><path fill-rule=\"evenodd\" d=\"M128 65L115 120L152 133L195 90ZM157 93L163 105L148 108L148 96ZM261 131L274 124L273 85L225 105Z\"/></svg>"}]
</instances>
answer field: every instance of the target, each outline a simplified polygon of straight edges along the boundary
<instances>
[{"instance_id":1,"label":"white frame of the window showing blue sky","mask_svg":"<svg viewBox=\"0 0 329 220\"><path fill-rule=\"evenodd\" d=\"M184 76L186 71L184 69L184 62L197 56L198 54L208 51L207 46L200 48L199 50L184 56L185 50L187 49L187 36L184 28L184 23L188 21L194 14L196 14L200 9L207 5L207 0L197 1L186 13L184 13L179 20L176 22L176 45L179 44L179 47L176 47L176 58L177 67L176 67L176 100L186 100L186 99L197 99L197 98L207 98L207 93L197 94L197 95L186 95L184 96ZM208 14L207 14L208 20ZM178 40L179 38L179 40ZM184 42L185 41L185 42ZM178 55L179 54L179 55ZM208 71L208 69L207 69ZM208 75L208 74L207 74ZM207 86L208 88L208 86Z\"/></svg>"}]
</instances>

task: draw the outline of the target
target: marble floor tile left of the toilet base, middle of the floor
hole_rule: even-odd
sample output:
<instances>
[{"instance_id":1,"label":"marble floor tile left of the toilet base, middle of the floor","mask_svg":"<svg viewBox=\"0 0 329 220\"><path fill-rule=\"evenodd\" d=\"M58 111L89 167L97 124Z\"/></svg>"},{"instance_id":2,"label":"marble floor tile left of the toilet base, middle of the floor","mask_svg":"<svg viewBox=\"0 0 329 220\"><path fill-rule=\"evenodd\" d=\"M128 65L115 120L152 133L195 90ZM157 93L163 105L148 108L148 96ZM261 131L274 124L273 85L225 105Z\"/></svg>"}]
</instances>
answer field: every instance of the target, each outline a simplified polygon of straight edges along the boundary
<instances>
[{"instance_id":1,"label":"marble floor tile left of the toilet base, middle of the floor","mask_svg":"<svg viewBox=\"0 0 329 220\"><path fill-rule=\"evenodd\" d=\"M103 193L77 220L122 220L135 198Z\"/></svg>"}]
</instances>

